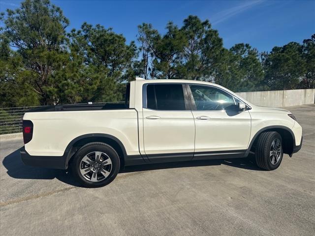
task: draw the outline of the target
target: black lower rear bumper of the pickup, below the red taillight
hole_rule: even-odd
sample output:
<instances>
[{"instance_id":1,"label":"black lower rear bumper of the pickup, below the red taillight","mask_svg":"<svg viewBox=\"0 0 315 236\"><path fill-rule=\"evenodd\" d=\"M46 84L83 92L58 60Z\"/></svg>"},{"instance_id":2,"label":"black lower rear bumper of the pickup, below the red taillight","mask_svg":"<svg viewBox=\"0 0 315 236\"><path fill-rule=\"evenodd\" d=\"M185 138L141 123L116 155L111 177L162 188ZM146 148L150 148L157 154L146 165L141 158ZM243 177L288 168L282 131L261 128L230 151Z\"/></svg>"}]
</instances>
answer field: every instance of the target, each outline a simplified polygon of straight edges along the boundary
<instances>
[{"instance_id":1,"label":"black lower rear bumper of the pickup, below the red taillight","mask_svg":"<svg viewBox=\"0 0 315 236\"><path fill-rule=\"evenodd\" d=\"M63 156L31 156L25 148L20 149L21 159L25 165L65 170L65 158Z\"/></svg>"}]
</instances>

